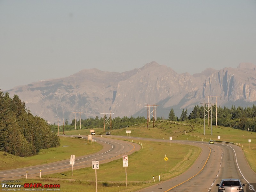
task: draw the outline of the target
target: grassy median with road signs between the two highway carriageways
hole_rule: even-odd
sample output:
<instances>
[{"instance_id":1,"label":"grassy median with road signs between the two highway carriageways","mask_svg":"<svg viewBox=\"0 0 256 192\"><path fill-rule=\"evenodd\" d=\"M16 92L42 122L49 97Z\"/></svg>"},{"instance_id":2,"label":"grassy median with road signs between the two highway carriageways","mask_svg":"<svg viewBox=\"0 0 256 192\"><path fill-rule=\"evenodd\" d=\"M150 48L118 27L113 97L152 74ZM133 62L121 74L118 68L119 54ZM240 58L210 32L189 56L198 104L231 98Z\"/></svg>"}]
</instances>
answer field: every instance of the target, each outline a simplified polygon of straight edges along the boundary
<instances>
[{"instance_id":1,"label":"grassy median with road signs between the two highway carriageways","mask_svg":"<svg viewBox=\"0 0 256 192\"><path fill-rule=\"evenodd\" d=\"M133 140L133 142L139 143L140 141ZM170 143L143 141L143 148L129 155L127 188L123 161L118 159L110 163L100 164L97 170L98 191L136 191L159 182L159 175L161 181L168 180L186 171L194 163L200 152L200 148L189 145L172 144L170 146ZM166 172L165 154L168 157ZM152 175L155 176L155 182ZM92 170L92 167L73 170L73 177L71 177L71 171L42 177L46 179L46 184L49 184L49 179L58 178L57 181L52 180L51 182L60 184L61 191L95 191L95 171ZM23 181L38 182L38 180Z\"/></svg>"}]
</instances>

